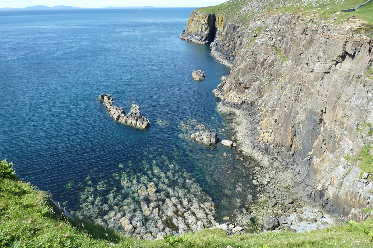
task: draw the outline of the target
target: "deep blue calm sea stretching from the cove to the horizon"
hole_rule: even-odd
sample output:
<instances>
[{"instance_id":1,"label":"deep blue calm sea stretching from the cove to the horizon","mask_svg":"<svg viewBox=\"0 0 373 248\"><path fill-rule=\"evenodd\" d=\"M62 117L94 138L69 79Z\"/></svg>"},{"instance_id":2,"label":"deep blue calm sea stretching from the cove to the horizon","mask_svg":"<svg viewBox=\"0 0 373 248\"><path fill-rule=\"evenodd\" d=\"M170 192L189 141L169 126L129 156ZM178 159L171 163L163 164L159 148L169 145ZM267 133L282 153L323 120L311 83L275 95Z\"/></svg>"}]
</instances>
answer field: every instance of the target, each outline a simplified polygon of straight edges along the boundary
<instances>
[{"instance_id":1,"label":"deep blue calm sea stretching from the cove to the horizon","mask_svg":"<svg viewBox=\"0 0 373 248\"><path fill-rule=\"evenodd\" d=\"M119 164L141 171L149 152L175 160L218 205L223 202L228 194L222 192L234 192L243 180L222 183L217 154L233 149L179 137L182 122L216 131L225 126L211 91L229 68L207 45L179 38L191 11L1 12L0 159L12 161L20 178L50 191L70 210L79 209L85 186L115 186ZM192 70L204 70L206 79L192 80ZM151 127L116 123L98 102L105 93L126 113L133 101L140 105Z\"/></svg>"}]
</instances>

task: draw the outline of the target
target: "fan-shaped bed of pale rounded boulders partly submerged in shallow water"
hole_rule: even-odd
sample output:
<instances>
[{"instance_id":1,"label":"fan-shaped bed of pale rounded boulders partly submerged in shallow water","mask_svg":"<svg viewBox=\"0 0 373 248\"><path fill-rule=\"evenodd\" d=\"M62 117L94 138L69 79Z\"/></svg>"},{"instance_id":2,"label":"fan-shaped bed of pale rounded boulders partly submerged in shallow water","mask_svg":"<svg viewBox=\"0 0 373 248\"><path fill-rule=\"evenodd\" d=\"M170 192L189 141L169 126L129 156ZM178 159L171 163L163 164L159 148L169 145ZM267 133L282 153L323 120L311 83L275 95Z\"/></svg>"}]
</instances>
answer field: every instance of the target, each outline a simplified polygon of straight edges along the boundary
<instances>
[{"instance_id":1,"label":"fan-shaped bed of pale rounded boulders partly submerged in shallow water","mask_svg":"<svg viewBox=\"0 0 373 248\"><path fill-rule=\"evenodd\" d=\"M216 226L211 197L192 174L167 157L149 157L141 166L123 168L120 175L109 194L88 186L77 216L142 239Z\"/></svg>"}]
</instances>

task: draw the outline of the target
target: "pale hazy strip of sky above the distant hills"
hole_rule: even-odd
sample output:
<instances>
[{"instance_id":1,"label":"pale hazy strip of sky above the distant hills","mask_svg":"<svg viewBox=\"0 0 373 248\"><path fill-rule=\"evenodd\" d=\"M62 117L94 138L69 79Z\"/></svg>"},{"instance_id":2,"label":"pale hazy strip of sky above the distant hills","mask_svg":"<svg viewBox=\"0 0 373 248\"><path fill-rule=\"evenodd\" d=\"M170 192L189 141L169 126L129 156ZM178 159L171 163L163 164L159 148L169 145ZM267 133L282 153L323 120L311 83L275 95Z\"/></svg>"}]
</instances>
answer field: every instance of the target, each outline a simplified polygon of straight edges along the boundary
<instances>
[{"instance_id":1,"label":"pale hazy strip of sky above the distant hills","mask_svg":"<svg viewBox=\"0 0 373 248\"><path fill-rule=\"evenodd\" d=\"M226 0L225 0L226 1ZM124 6L164 6L164 7L203 7L212 6L225 2L224 0L0 0L0 8L12 7L23 8L34 5L68 5L75 7L124 7Z\"/></svg>"}]
</instances>

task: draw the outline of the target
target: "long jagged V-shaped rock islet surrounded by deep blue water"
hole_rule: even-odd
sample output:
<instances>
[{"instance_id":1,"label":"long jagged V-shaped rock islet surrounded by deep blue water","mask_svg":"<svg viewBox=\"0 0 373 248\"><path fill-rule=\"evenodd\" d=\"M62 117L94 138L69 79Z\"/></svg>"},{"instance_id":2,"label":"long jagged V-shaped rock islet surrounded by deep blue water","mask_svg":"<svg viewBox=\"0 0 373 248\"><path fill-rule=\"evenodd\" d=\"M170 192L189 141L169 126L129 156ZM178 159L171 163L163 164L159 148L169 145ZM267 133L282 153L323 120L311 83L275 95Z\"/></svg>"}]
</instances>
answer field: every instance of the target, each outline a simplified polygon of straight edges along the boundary
<instances>
[{"instance_id":1,"label":"long jagged V-shaped rock islet surrounded by deep blue water","mask_svg":"<svg viewBox=\"0 0 373 248\"><path fill-rule=\"evenodd\" d=\"M105 103L105 107L109 111L110 117L115 121L131 125L136 128L148 128L150 122L140 113L140 107L136 104L132 104L131 112L126 115L126 112L122 107L113 106L113 98L110 94L98 95L98 99Z\"/></svg>"}]
</instances>

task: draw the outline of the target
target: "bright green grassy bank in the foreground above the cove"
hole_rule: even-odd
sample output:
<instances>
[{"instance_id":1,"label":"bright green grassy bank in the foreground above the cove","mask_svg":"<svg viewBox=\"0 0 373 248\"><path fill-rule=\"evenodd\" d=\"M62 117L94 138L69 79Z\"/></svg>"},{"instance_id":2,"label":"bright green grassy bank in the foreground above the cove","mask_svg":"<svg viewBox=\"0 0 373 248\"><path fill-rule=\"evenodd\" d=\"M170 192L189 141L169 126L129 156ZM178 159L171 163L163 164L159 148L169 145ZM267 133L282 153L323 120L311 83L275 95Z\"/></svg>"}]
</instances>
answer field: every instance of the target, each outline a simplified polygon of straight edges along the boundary
<instances>
[{"instance_id":1,"label":"bright green grassy bank in the foreground above the cove","mask_svg":"<svg viewBox=\"0 0 373 248\"><path fill-rule=\"evenodd\" d=\"M336 225L308 233L265 232L227 236L206 229L154 241L137 240L87 220L67 220L48 194L17 179L12 164L0 162L0 247L372 247L373 220ZM110 244L111 243L111 244Z\"/></svg>"}]
</instances>

